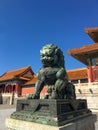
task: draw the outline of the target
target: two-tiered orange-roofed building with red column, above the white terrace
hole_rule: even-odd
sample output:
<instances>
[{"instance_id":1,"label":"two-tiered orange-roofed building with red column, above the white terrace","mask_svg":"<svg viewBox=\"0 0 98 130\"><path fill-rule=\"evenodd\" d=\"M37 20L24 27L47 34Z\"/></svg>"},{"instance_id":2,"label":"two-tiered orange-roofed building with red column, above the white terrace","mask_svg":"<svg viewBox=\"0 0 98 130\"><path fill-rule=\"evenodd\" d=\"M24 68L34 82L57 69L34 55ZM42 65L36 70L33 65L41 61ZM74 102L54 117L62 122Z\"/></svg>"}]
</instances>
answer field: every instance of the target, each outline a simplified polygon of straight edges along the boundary
<instances>
[{"instance_id":1,"label":"two-tiered orange-roofed building with red column, above the white terrace","mask_svg":"<svg viewBox=\"0 0 98 130\"><path fill-rule=\"evenodd\" d=\"M90 82L98 82L98 28L86 28L85 32L95 43L68 50L68 54L87 66Z\"/></svg>"}]
</instances>

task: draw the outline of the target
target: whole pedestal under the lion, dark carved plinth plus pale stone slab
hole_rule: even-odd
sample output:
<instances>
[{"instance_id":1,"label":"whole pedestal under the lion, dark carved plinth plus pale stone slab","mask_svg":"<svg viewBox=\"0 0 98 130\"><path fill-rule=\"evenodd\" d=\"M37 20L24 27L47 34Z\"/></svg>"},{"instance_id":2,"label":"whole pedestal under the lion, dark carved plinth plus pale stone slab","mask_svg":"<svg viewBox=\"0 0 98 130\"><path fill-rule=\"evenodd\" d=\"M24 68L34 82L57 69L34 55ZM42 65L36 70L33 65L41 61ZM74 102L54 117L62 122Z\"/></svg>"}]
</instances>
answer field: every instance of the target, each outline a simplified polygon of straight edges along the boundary
<instances>
[{"instance_id":1,"label":"whole pedestal under the lion, dark carved plinth plus pale stone slab","mask_svg":"<svg viewBox=\"0 0 98 130\"><path fill-rule=\"evenodd\" d=\"M9 130L94 130L86 100L25 99L6 120Z\"/></svg>"}]
</instances>

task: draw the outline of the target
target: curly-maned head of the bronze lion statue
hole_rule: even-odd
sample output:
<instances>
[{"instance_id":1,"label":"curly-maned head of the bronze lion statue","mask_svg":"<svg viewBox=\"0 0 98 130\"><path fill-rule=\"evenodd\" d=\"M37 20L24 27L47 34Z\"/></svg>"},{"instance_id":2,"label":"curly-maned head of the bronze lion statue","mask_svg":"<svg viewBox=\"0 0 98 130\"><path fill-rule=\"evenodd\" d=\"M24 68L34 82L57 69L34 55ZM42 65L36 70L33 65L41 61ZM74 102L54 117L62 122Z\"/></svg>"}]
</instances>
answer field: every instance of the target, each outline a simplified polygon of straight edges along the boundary
<instances>
[{"instance_id":1,"label":"curly-maned head of the bronze lion statue","mask_svg":"<svg viewBox=\"0 0 98 130\"><path fill-rule=\"evenodd\" d=\"M64 68L64 56L60 48L54 44L47 44L40 51L41 62L43 67L63 67Z\"/></svg>"}]
</instances>

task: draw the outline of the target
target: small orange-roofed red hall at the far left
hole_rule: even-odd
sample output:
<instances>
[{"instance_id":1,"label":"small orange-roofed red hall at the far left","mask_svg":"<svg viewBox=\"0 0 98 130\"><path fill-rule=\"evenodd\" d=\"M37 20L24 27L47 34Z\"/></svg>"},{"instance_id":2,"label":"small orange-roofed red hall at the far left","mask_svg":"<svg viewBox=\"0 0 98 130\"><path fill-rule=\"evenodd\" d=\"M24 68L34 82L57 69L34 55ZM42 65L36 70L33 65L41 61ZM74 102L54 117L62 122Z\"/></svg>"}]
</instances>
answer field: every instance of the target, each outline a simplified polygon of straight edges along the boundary
<instances>
[{"instance_id":1,"label":"small orange-roofed red hall at the far left","mask_svg":"<svg viewBox=\"0 0 98 130\"><path fill-rule=\"evenodd\" d=\"M26 91L24 85L32 79L33 86L35 84L35 74L30 66L7 71L0 76L1 93L15 93L17 96L21 96Z\"/></svg>"}]
</instances>

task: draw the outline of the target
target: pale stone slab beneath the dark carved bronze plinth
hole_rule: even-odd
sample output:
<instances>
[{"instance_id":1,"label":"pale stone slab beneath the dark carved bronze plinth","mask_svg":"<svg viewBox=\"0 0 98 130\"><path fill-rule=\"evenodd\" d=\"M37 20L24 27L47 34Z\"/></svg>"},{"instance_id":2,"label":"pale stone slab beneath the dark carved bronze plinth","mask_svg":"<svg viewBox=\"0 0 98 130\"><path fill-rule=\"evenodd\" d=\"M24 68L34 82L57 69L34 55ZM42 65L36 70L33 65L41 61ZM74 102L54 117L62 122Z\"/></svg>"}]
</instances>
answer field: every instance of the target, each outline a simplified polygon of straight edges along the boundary
<instances>
[{"instance_id":1,"label":"pale stone slab beneath the dark carved bronze plinth","mask_svg":"<svg viewBox=\"0 0 98 130\"><path fill-rule=\"evenodd\" d=\"M12 118L6 119L8 130L95 130L96 115L89 115L63 126L51 126Z\"/></svg>"}]
</instances>

